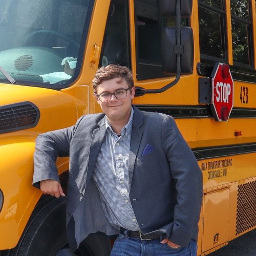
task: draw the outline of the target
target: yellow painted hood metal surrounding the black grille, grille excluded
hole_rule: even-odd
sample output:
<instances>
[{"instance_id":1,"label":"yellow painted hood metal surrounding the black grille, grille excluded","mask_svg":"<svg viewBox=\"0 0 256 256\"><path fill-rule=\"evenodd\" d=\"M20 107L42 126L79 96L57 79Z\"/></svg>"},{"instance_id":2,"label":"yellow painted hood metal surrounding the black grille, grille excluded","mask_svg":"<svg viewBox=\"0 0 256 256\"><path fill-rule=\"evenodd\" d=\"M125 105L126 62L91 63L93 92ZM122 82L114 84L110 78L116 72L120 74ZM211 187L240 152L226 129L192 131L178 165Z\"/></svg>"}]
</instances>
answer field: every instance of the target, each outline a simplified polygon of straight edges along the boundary
<instances>
[{"instance_id":1,"label":"yellow painted hood metal surrounding the black grille, grille excluded","mask_svg":"<svg viewBox=\"0 0 256 256\"><path fill-rule=\"evenodd\" d=\"M85 103L74 96L45 88L0 84L0 94L2 106L30 101L40 111L40 119L36 127L26 132L0 134L0 143L3 142L2 138L5 140L20 133L42 133L71 126L76 122L78 113L83 113L85 109Z\"/></svg>"}]
</instances>

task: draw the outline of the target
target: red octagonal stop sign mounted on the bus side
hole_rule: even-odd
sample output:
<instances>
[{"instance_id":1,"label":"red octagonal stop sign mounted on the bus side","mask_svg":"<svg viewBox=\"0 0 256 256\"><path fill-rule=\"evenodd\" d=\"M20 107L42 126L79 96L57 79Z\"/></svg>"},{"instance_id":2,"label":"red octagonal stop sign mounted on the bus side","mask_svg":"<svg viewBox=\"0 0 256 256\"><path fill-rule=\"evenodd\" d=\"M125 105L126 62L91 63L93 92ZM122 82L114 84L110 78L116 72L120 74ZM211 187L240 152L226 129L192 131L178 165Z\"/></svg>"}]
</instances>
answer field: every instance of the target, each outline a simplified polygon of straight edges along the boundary
<instances>
[{"instance_id":1,"label":"red octagonal stop sign mounted on the bus side","mask_svg":"<svg viewBox=\"0 0 256 256\"><path fill-rule=\"evenodd\" d=\"M216 121L227 121L233 108L234 82L227 64L216 63L211 73L211 109Z\"/></svg>"}]
</instances>

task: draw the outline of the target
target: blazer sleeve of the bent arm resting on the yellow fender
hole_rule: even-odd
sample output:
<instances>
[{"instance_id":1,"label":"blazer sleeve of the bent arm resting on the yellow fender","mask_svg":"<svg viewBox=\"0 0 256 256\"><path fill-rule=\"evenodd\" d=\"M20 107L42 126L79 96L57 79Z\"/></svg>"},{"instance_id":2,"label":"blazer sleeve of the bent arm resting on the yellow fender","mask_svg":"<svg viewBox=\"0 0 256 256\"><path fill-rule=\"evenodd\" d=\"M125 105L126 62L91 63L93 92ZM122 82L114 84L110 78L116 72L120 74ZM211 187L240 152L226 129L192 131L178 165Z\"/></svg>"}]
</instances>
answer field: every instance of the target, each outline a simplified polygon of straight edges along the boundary
<instances>
[{"instance_id":1,"label":"blazer sleeve of the bent arm resting on the yellow fender","mask_svg":"<svg viewBox=\"0 0 256 256\"><path fill-rule=\"evenodd\" d=\"M69 156L70 142L79 125L40 134L35 141L33 186L40 188L41 180L57 180L58 170L55 165L57 157Z\"/></svg>"}]
</instances>

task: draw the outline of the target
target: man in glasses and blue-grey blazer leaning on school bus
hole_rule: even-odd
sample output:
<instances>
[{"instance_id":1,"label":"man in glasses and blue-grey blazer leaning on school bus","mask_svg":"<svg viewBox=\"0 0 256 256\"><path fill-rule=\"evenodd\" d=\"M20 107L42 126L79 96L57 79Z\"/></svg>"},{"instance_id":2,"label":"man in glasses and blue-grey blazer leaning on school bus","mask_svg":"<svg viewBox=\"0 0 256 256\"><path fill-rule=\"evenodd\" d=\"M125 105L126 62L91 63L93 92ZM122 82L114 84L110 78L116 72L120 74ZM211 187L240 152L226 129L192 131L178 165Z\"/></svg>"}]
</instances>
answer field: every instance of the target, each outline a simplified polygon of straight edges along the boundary
<instances>
[{"instance_id":1,"label":"man in glasses and blue-grey blazer leaning on school bus","mask_svg":"<svg viewBox=\"0 0 256 256\"><path fill-rule=\"evenodd\" d=\"M38 136L34 154L33 184L55 197L55 160L70 156L71 248L101 231L119 233L111 255L196 255L202 173L174 119L132 106L125 67L100 68L93 89L103 113Z\"/></svg>"}]
</instances>

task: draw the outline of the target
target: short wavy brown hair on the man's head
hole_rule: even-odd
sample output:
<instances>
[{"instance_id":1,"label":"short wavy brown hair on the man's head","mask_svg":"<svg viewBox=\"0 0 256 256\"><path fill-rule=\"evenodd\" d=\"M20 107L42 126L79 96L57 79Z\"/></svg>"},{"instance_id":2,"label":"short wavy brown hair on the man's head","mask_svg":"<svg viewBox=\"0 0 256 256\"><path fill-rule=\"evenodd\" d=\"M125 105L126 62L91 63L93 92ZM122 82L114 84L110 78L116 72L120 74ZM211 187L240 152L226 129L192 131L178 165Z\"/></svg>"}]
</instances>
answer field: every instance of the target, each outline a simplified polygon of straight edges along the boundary
<instances>
[{"instance_id":1,"label":"short wavy brown hair on the man's head","mask_svg":"<svg viewBox=\"0 0 256 256\"><path fill-rule=\"evenodd\" d=\"M97 87L100 83L116 77L120 77L120 82L124 79L129 88L134 87L133 73L131 70L126 67L111 64L106 67L101 67L96 71L92 81L94 93L97 92Z\"/></svg>"}]
</instances>

